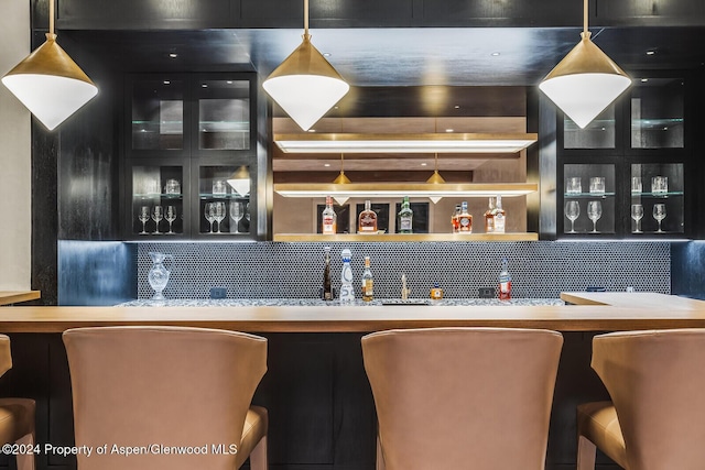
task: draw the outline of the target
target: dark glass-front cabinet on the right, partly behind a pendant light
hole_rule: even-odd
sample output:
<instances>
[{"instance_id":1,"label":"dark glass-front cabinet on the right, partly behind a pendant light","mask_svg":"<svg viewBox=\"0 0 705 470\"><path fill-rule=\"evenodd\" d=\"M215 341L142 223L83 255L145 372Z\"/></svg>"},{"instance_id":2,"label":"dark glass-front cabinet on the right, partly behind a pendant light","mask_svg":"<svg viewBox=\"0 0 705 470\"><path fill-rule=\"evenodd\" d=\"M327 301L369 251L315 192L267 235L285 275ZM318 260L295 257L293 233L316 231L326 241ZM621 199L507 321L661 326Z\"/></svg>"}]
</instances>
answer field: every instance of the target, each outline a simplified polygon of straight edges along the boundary
<instances>
[{"instance_id":1,"label":"dark glass-front cabinet on the right, partly behind a pendant light","mask_svg":"<svg viewBox=\"0 0 705 470\"><path fill-rule=\"evenodd\" d=\"M686 80L631 74L585 129L558 117L560 238L683 238L688 226Z\"/></svg>"}]
</instances>

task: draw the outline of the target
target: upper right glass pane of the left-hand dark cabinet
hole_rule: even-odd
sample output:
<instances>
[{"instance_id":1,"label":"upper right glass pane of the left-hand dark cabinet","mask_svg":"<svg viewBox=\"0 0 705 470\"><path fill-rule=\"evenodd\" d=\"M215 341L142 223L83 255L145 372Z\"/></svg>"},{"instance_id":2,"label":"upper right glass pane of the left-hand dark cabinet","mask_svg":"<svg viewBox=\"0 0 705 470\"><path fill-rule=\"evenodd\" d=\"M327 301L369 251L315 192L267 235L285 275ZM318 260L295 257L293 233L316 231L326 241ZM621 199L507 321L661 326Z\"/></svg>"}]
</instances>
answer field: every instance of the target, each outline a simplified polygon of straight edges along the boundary
<instances>
[{"instance_id":1,"label":"upper right glass pane of the left-hand dark cabinet","mask_svg":"<svg viewBox=\"0 0 705 470\"><path fill-rule=\"evenodd\" d=\"M250 83L200 80L198 150L250 149Z\"/></svg>"}]
</instances>

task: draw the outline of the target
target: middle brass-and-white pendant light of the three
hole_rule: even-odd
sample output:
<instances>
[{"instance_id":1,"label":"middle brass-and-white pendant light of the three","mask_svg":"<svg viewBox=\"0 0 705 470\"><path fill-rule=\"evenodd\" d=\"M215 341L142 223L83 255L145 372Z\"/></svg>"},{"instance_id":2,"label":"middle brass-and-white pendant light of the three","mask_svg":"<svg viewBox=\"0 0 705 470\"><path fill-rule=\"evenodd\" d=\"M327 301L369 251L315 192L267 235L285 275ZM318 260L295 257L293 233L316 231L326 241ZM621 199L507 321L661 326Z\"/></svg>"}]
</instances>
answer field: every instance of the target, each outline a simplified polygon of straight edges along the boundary
<instances>
[{"instance_id":1,"label":"middle brass-and-white pendant light of the three","mask_svg":"<svg viewBox=\"0 0 705 470\"><path fill-rule=\"evenodd\" d=\"M307 131L343 98L350 86L311 44L308 0L304 0L304 34L301 45L267 77L262 87L274 101Z\"/></svg>"}]
</instances>

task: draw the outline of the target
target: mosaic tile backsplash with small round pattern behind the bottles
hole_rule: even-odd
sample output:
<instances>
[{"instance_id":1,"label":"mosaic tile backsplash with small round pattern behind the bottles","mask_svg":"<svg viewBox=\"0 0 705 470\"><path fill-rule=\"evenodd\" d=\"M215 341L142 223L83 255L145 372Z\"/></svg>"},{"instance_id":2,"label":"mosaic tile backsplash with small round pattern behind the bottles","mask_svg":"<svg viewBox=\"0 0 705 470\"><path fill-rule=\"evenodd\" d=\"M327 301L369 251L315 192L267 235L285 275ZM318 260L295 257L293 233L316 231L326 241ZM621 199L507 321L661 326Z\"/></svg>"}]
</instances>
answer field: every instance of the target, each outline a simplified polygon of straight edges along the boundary
<instances>
[{"instance_id":1,"label":"mosaic tile backsplash with small round pattern behind the bottles","mask_svg":"<svg viewBox=\"0 0 705 470\"><path fill-rule=\"evenodd\" d=\"M671 293L668 242L425 242L425 243L139 243L138 298L153 294L147 280L149 252L173 256L167 298L208 298L225 287L227 298L316 298L323 284L324 247L330 247L334 288L340 282L340 251L352 251L356 287L369 255L378 298L398 298L406 274L410 297L427 297L437 283L446 298L478 297L496 287L502 258L509 260L512 296L555 298L562 291Z\"/></svg>"}]
</instances>

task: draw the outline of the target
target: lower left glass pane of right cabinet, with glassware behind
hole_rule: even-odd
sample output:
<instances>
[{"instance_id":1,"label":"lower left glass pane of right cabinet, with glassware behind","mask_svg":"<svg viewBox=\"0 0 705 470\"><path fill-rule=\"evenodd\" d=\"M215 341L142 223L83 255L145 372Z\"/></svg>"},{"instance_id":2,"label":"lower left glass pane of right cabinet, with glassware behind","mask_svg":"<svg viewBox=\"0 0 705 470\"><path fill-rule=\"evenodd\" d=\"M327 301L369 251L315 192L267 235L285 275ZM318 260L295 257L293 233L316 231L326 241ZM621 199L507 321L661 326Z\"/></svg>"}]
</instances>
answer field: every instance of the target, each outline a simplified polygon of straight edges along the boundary
<instances>
[{"instance_id":1,"label":"lower left glass pane of right cabinet, with glassware behind","mask_svg":"<svg viewBox=\"0 0 705 470\"><path fill-rule=\"evenodd\" d=\"M615 165L564 165L563 232L615 233Z\"/></svg>"}]
</instances>

